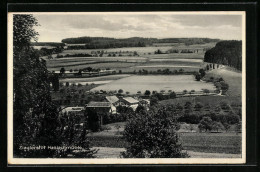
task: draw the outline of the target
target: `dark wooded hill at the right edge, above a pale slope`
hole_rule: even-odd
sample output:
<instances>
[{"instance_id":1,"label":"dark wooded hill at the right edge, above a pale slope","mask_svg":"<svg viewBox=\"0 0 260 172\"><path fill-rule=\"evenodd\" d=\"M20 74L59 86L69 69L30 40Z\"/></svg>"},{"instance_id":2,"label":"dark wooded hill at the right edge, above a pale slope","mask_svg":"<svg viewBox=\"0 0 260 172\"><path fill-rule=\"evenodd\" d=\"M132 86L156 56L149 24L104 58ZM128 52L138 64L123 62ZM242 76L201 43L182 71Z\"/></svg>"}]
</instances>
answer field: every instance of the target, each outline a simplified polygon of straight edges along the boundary
<instances>
[{"instance_id":1,"label":"dark wooded hill at the right edge, above a pale slope","mask_svg":"<svg viewBox=\"0 0 260 172\"><path fill-rule=\"evenodd\" d=\"M206 51L204 62L218 63L242 70L242 41L221 41Z\"/></svg>"}]
</instances>

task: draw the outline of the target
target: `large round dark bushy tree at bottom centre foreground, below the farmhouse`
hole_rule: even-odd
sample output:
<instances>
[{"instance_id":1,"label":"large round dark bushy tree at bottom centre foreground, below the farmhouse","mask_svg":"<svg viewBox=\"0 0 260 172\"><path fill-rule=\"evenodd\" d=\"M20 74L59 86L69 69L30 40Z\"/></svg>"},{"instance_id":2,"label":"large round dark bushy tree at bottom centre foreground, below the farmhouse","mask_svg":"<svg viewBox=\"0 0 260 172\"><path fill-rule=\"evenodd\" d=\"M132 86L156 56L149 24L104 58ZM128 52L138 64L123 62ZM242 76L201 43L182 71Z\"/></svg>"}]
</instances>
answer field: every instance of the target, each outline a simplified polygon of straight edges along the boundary
<instances>
[{"instance_id":1,"label":"large round dark bushy tree at bottom centre foreground, below the farmhouse","mask_svg":"<svg viewBox=\"0 0 260 172\"><path fill-rule=\"evenodd\" d=\"M123 137L129 146L125 158L184 158L176 130L179 125L165 107L141 111L127 121Z\"/></svg>"}]
</instances>

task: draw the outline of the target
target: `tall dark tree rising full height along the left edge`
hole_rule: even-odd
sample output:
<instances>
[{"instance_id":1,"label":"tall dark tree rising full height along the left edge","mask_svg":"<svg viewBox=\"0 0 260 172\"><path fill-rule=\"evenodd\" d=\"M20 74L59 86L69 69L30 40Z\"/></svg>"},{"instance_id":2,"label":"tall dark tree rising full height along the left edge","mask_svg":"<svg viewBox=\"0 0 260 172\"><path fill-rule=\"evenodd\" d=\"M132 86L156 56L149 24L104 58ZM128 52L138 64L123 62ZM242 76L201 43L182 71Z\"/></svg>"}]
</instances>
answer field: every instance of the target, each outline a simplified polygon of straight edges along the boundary
<instances>
[{"instance_id":1,"label":"tall dark tree rising full height along the left edge","mask_svg":"<svg viewBox=\"0 0 260 172\"><path fill-rule=\"evenodd\" d=\"M14 154L22 157L30 156L30 151L22 152L19 145L60 144L58 112L51 101L46 62L30 47L30 41L37 40L36 25L32 15L13 15L13 140ZM39 154L53 157L54 151Z\"/></svg>"}]
</instances>

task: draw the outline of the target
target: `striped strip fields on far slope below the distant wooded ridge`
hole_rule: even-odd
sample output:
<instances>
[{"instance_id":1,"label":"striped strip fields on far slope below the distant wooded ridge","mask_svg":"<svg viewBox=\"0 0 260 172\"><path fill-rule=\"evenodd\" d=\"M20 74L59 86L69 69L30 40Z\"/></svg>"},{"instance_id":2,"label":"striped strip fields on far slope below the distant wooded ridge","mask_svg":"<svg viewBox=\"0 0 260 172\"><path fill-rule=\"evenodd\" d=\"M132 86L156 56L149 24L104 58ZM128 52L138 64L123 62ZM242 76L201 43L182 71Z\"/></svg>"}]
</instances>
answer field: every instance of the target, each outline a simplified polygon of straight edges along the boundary
<instances>
[{"instance_id":1,"label":"striped strip fields on far slope below the distant wooded ridge","mask_svg":"<svg viewBox=\"0 0 260 172\"><path fill-rule=\"evenodd\" d=\"M211 44L210 44L211 45ZM65 70L83 69L87 67L106 69L110 68L123 72L133 72L138 70L157 71L158 69L169 68L171 71L184 69L184 71L198 71L204 67L203 48L209 47L208 44L186 46L184 44L173 45L157 45L150 47L127 47L127 48L111 48L111 49L82 49L82 50L64 50L59 55L75 55L75 54L91 54L93 52L103 51L102 57L63 57L53 59L42 57L47 62L49 71L59 71L62 67ZM212 46L212 45L211 45ZM195 53L171 53L171 54L155 54L155 51L161 50L166 52L170 49L189 49L196 50ZM198 50L198 52L197 52ZM133 56L133 52L138 55ZM110 55L115 54L115 57ZM121 54L122 56L119 56ZM130 56L131 55L131 56Z\"/></svg>"}]
</instances>

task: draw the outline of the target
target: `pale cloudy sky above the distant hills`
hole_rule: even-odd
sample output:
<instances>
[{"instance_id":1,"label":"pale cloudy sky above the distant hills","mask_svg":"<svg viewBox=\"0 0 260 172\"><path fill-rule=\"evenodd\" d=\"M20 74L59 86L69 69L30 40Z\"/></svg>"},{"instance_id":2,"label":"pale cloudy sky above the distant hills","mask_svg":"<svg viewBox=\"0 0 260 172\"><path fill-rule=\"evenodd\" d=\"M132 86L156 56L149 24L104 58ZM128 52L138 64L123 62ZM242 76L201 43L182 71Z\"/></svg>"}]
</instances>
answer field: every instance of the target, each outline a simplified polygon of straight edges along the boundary
<instances>
[{"instance_id":1,"label":"pale cloudy sky above the distant hills","mask_svg":"<svg viewBox=\"0 0 260 172\"><path fill-rule=\"evenodd\" d=\"M218 38L242 39L239 14L198 13L77 13L33 14L40 26L39 42L73 37Z\"/></svg>"}]
</instances>

